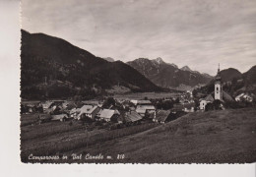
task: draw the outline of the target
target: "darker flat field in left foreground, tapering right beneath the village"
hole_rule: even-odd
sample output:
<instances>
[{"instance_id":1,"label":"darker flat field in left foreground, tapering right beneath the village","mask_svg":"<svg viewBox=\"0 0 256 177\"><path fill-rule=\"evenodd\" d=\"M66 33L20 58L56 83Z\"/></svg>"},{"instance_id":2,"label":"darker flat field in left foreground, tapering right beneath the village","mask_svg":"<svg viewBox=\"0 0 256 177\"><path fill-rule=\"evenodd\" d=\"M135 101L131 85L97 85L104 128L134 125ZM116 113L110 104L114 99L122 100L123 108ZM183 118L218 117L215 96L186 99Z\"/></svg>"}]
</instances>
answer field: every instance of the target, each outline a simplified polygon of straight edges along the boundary
<instances>
[{"instance_id":1,"label":"darker flat field in left foreground, tapering right beneath the village","mask_svg":"<svg viewBox=\"0 0 256 177\"><path fill-rule=\"evenodd\" d=\"M53 127L49 126L50 123L48 123L48 125L39 125L40 127L36 130L31 130L30 134L22 133L22 161L27 162L30 154L54 155L78 148L88 148L94 145L98 146L100 143L143 132L157 126L154 123L146 123L112 131L95 130L88 132L84 130L80 131L81 127L79 127L79 125L75 126L75 129L80 129L73 131L74 127L68 126L68 124L58 123L59 126L55 124L52 124ZM46 131L41 132L40 130L43 127ZM50 136L50 133L53 136ZM32 139L28 139L30 136Z\"/></svg>"}]
</instances>

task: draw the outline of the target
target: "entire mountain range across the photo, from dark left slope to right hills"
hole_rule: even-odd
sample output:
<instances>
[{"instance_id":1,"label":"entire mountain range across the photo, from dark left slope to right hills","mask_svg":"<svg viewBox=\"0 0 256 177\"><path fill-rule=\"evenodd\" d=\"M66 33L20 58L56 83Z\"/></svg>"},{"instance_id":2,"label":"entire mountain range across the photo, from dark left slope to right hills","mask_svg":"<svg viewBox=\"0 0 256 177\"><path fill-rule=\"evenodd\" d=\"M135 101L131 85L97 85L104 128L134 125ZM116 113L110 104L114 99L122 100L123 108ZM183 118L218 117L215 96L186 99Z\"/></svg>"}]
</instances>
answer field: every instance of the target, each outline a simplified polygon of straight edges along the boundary
<instances>
[{"instance_id":1,"label":"entire mountain range across the photo, from dark left slope to right hills","mask_svg":"<svg viewBox=\"0 0 256 177\"><path fill-rule=\"evenodd\" d=\"M93 98L109 93L108 90L164 91L203 86L213 89L214 84L214 77L208 74L188 66L179 69L161 58L123 63L111 57L97 57L64 39L23 29L21 69L21 96L25 99ZM221 76L224 83L242 81L238 88L247 89L256 83L255 70L256 66L241 74L229 68L221 71Z\"/></svg>"}]
</instances>

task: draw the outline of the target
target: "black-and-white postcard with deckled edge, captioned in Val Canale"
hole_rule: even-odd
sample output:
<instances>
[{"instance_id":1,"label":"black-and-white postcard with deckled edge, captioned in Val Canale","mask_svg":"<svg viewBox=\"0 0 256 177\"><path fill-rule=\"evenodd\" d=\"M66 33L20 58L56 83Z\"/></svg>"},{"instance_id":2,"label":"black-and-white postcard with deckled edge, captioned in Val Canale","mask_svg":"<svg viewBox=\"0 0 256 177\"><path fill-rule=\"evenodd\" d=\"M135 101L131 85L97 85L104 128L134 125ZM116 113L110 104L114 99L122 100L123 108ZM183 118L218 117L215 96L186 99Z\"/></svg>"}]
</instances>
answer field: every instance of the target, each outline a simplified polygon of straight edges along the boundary
<instances>
[{"instance_id":1,"label":"black-and-white postcard with deckled edge, captioned in Val Canale","mask_svg":"<svg viewBox=\"0 0 256 177\"><path fill-rule=\"evenodd\" d=\"M22 0L21 161L256 161L256 1Z\"/></svg>"}]
</instances>

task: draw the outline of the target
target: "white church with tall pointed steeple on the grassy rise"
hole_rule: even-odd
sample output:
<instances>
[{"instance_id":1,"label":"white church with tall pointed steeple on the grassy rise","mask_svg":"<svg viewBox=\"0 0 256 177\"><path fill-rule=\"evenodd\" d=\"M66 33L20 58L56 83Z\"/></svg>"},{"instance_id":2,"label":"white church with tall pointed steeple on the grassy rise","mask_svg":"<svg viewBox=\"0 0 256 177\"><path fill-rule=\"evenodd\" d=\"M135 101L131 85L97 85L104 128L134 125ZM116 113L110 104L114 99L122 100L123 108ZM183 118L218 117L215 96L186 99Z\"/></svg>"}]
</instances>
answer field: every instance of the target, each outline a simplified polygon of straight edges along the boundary
<instances>
[{"instance_id":1,"label":"white church with tall pointed steeple on the grassy rise","mask_svg":"<svg viewBox=\"0 0 256 177\"><path fill-rule=\"evenodd\" d=\"M206 105L208 103L214 102L214 100L221 100L222 102L224 102L223 97L225 92L223 90L223 83L222 83L222 77L220 72L221 71L220 71L220 64L219 64L218 73L215 78L215 91L211 94L208 94L205 98L200 99L200 105L199 105L200 110L205 110Z\"/></svg>"}]
</instances>

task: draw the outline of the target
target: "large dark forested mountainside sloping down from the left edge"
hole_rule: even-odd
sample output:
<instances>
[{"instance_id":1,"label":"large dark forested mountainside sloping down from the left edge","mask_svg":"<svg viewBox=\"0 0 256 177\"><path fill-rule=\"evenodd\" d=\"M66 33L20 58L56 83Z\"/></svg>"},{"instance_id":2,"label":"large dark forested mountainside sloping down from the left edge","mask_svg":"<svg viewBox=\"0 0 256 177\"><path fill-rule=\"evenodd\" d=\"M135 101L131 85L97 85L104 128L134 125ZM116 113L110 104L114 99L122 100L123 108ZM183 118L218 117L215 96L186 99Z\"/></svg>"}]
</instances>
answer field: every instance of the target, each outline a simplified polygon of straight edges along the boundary
<instances>
[{"instance_id":1,"label":"large dark forested mountainside sloping down from the left edge","mask_svg":"<svg viewBox=\"0 0 256 177\"><path fill-rule=\"evenodd\" d=\"M22 30L21 50L23 98L96 96L113 86L161 90L129 65L107 62L61 38Z\"/></svg>"}]
</instances>

